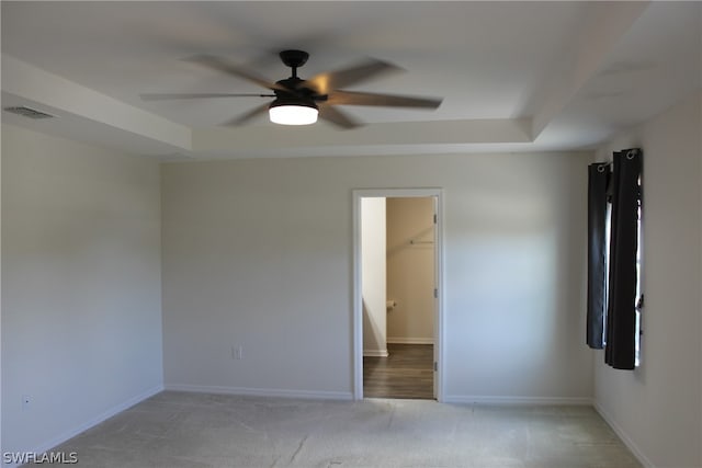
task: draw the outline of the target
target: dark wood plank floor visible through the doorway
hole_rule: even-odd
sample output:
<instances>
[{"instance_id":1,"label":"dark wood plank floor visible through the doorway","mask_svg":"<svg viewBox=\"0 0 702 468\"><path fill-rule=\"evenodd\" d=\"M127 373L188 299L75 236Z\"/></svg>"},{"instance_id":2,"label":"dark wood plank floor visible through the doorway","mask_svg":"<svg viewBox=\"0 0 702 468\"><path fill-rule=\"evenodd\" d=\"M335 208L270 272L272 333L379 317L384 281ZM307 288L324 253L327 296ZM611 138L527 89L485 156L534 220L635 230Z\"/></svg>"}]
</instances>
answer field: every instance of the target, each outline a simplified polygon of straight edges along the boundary
<instances>
[{"instance_id":1,"label":"dark wood plank floor visible through the doorway","mask_svg":"<svg viewBox=\"0 0 702 468\"><path fill-rule=\"evenodd\" d=\"M365 398L433 399L433 345L388 344L388 357L363 357Z\"/></svg>"}]
</instances>

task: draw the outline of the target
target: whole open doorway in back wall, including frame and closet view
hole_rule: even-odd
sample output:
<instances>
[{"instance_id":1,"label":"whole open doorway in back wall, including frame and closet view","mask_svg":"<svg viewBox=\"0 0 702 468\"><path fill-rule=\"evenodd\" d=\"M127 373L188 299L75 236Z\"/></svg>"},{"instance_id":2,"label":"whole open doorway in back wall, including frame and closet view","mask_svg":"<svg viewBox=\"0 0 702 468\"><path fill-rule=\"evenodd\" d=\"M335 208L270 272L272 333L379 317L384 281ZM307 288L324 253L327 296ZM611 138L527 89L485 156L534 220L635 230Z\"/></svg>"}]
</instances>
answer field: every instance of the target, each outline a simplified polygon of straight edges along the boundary
<instances>
[{"instance_id":1,"label":"whole open doorway in back wall, including frame and closet view","mask_svg":"<svg viewBox=\"0 0 702 468\"><path fill-rule=\"evenodd\" d=\"M353 194L354 398L441 401L441 190Z\"/></svg>"}]
</instances>

